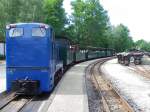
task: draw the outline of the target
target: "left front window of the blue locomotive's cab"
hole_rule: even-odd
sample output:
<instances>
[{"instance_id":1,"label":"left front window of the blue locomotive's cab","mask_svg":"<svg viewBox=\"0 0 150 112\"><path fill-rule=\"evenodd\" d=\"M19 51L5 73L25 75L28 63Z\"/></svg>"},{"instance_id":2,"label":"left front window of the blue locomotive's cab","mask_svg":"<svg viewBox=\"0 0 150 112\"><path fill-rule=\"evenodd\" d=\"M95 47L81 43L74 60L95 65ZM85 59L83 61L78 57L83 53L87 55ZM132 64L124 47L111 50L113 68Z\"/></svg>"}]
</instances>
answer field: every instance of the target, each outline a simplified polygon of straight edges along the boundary
<instances>
[{"instance_id":1,"label":"left front window of the blue locomotive's cab","mask_svg":"<svg viewBox=\"0 0 150 112\"><path fill-rule=\"evenodd\" d=\"M9 31L10 37L20 37L23 36L23 28L11 28Z\"/></svg>"}]
</instances>

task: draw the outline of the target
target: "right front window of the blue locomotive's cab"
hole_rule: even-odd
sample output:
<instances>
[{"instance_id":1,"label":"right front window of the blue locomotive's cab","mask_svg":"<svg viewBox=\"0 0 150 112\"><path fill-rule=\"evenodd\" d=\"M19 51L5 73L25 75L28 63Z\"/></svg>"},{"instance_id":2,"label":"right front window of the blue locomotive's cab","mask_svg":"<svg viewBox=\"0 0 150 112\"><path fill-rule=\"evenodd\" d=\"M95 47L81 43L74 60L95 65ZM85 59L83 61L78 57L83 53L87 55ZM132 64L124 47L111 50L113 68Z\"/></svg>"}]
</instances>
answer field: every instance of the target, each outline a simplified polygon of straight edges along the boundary
<instances>
[{"instance_id":1,"label":"right front window of the blue locomotive's cab","mask_svg":"<svg viewBox=\"0 0 150 112\"><path fill-rule=\"evenodd\" d=\"M44 37L46 35L45 28L32 28L32 36L34 37Z\"/></svg>"}]
</instances>

